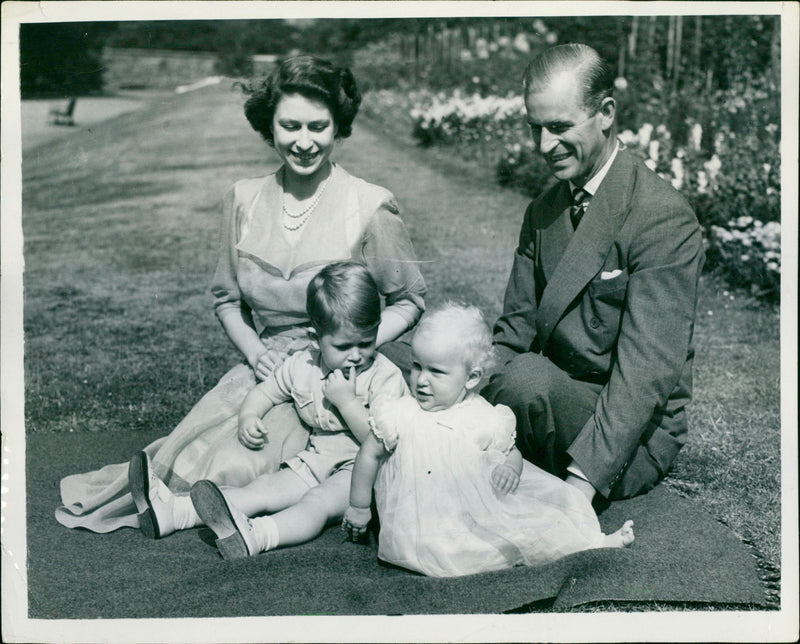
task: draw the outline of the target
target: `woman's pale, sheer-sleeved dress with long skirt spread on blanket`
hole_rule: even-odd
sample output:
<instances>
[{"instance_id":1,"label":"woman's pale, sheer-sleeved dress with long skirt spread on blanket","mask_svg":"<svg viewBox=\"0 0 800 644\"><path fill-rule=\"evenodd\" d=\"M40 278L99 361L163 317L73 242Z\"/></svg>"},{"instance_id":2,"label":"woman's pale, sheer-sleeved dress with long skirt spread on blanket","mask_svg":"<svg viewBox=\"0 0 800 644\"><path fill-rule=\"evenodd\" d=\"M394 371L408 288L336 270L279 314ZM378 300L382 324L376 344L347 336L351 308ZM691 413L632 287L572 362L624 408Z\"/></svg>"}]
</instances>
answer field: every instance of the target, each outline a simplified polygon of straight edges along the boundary
<instances>
[{"instance_id":1,"label":"woman's pale, sheer-sleeved dress with long skirt spread on blanket","mask_svg":"<svg viewBox=\"0 0 800 644\"><path fill-rule=\"evenodd\" d=\"M264 346L284 356L309 347L306 287L326 264L364 263L387 309L409 327L424 309L425 282L392 194L333 166L328 186L299 237L282 225L283 169L237 182L225 198L219 261L212 282L217 316L245 315ZM255 386L241 363L226 373L167 436L145 448L156 474L176 493L200 479L246 485L306 446L308 432L291 404L273 408L274 438L262 450L237 439L237 415ZM282 428L282 436L278 428ZM137 527L127 463L67 476L56 519L70 528L110 532Z\"/></svg>"}]
</instances>

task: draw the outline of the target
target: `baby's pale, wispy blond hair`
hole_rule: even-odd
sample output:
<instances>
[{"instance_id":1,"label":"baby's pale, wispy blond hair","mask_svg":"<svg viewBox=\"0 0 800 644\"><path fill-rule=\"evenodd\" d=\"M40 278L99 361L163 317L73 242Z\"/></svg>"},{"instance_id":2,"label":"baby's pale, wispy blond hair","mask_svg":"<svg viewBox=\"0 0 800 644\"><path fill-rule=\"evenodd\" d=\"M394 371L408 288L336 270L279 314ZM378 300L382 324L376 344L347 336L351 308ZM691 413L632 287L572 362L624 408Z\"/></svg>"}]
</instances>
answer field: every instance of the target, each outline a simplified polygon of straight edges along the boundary
<instances>
[{"instance_id":1,"label":"baby's pale, wispy blond hair","mask_svg":"<svg viewBox=\"0 0 800 644\"><path fill-rule=\"evenodd\" d=\"M447 301L427 311L415 335L442 333L458 341L467 369L486 373L495 361L492 330L480 309L471 304Z\"/></svg>"}]
</instances>

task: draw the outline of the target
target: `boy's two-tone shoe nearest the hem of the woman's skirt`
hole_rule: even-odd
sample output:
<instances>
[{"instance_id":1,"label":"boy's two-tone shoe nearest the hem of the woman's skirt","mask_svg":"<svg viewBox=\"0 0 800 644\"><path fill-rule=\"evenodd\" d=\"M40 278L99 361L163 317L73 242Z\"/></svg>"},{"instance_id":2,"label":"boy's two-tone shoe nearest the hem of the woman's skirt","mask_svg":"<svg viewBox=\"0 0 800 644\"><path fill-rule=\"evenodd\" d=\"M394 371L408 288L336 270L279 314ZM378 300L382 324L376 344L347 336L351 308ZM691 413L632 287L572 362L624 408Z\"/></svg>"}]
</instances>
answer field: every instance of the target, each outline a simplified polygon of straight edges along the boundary
<instances>
[{"instance_id":1,"label":"boy's two-tone shoe nearest the hem of the woman's skirt","mask_svg":"<svg viewBox=\"0 0 800 644\"><path fill-rule=\"evenodd\" d=\"M128 463L128 484L139 513L139 529L151 539L175 532L172 506L175 495L153 472L150 457L139 452Z\"/></svg>"}]
</instances>

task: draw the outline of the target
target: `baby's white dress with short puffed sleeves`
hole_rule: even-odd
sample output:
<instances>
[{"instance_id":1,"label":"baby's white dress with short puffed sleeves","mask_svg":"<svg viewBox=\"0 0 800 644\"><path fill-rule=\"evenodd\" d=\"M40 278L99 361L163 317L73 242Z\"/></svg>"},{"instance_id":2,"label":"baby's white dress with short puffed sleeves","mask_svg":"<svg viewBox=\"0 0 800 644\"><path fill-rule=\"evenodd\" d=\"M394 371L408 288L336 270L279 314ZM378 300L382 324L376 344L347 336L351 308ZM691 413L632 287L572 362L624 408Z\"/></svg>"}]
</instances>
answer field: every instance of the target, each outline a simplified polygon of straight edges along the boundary
<instances>
[{"instance_id":1,"label":"baby's white dress with short puffed sleeves","mask_svg":"<svg viewBox=\"0 0 800 644\"><path fill-rule=\"evenodd\" d=\"M519 487L496 492L491 472L514 446L508 407L471 396L437 412L405 396L379 399L372 431L391 454L378 470L378 557L433 577L545 564L603 545L576 488L525 461Z\"/></svg>"}]
</instances>

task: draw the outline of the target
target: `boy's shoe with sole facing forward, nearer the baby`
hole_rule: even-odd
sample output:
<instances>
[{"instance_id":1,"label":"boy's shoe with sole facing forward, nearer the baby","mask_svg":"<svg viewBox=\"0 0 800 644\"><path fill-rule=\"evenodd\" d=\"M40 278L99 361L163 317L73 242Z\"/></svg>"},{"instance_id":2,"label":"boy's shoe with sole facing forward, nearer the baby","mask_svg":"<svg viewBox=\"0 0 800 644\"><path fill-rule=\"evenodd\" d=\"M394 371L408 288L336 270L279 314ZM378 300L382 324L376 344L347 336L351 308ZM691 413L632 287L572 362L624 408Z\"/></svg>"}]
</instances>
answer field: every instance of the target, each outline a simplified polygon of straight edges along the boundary
<instances>
[{"instance_id":1,"label":"boy's shoe with sole facing forward, nearer the baby","mask_svg":"<svg viewBox=\"0 0 800 644\"><path fill-rule=\"evenodd\" d=\"M260 551L250 519L229 503L211 481L192 486L192 503L203 523L217 535L217 548L225 560L252 557Z\"/></svg>"}]
</instances>

